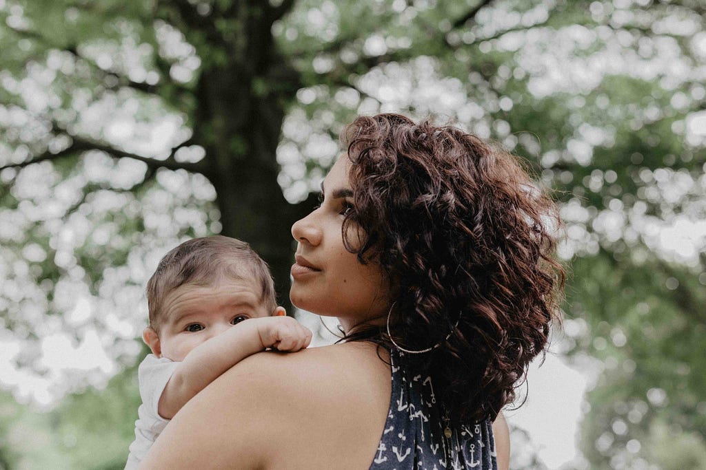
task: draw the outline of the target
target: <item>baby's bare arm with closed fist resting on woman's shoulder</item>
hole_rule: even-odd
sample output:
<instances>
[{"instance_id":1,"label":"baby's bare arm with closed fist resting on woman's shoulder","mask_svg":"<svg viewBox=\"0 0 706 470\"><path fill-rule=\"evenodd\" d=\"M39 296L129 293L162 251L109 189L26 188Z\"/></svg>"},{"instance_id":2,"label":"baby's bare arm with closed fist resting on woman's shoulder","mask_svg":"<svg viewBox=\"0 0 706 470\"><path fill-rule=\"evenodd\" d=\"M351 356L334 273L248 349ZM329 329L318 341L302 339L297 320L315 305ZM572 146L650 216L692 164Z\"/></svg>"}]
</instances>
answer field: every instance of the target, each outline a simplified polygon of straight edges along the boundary
<instances>
[{"instance_id":1,"label":"baby's bare arm with closed fist resting on woman's shoulder","mask_svg":"<svg viewBox=\"0 0 706 470\"><path fill-rule=\"evenodd\" d=\"M206 385L251 354L267 347L295 352L309 346L311 330L288 316L249 319L186 354L164 387L157 411L172 419Z\"/></svg>"}]
</instances>

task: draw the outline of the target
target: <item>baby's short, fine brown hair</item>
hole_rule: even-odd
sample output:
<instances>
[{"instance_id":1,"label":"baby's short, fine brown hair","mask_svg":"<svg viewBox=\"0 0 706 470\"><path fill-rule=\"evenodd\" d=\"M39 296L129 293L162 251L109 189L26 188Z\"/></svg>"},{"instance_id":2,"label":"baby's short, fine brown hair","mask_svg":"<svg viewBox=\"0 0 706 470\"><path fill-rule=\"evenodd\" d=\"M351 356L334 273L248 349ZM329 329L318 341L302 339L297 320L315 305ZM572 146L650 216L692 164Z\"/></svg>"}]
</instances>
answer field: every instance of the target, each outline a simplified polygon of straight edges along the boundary
<instances>
[{"instance_id":1,"label":"baby's short, fine brown hair","mask_svg":"<svg viewBox=\"0 0 706 470\"><path fill-rule=\"evenodd\" d=\"M208 286L220 280L251 280L261 287L261 301L277 307L270 268L246 242L213 235L193 238L165 254L147 283L150 326L157 330L169 292L184 284Z\"/></svg>"}]
</instances>

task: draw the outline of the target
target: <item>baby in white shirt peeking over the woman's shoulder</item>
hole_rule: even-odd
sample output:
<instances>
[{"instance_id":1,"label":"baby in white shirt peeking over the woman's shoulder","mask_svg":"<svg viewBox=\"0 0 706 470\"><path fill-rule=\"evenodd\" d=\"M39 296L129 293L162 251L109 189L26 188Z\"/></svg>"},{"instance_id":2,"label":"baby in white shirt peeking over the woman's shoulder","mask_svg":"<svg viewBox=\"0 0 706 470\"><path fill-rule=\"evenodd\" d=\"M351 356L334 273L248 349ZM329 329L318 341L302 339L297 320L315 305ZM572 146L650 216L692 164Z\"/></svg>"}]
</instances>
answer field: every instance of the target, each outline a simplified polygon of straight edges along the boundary
<instances>
[{"instance_id":1,"label":"baby in white shirt peeking over the woman's shoulder","mask_svg":"<svg viewBox=\"0 0 706 470\"><path fill-rule=\"evenodd\" d=\"M143 339L152 354L138 369L142 404L126 469L137 468L169 419L231 366L268 347L294 352L311 341L311 331L277 307L265 261L234 238L196 238L172 249L150 278L147 299Z\"/></svg>"}]
</instances>

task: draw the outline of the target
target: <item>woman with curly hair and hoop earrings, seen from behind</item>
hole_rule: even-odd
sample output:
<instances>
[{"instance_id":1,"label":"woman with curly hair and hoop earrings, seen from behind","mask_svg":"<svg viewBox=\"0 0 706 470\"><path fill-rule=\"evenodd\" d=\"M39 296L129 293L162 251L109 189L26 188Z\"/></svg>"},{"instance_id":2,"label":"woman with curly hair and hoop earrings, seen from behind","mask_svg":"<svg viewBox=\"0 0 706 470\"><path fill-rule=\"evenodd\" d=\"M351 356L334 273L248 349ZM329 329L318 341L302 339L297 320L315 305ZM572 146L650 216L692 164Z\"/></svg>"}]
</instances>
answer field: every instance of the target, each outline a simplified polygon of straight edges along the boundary
<instances>
[{"instance_id":1,"label":"woman with curly hair and hoop earrings, seen from behind","mask_svg":"<svg viewBox=\"0 0 706 470\"><path fill-rule=\"evenodd\" d=\"M342 140L321 206L292 226L290 297L337 316L345 342L237 364L146 468L508 468L498 413L563 281L554 204L513 156L453 127L382 114Z\"/></svg>"}]
</instances>

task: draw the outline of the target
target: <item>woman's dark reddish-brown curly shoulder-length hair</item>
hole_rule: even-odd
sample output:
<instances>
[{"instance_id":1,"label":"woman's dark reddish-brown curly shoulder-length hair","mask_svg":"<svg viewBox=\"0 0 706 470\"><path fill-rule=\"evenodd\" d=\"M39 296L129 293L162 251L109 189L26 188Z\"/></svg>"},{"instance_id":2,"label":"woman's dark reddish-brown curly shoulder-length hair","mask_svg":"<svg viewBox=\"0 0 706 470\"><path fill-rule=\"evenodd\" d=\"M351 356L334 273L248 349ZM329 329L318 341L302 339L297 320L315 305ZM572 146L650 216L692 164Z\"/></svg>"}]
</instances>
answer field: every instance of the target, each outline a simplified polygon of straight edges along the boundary
<instances>
[{"instance_id":1,"label":"woman's dark reddish-brown curly shoulder-length hair","mask_svg":"<svg viewBox=\"0 0 706 470\"><path fill-rule=\"evenodd\" d=\"M451 126L379 114L341 139L354 194L344 242L389 276L394 342L441 343L409 366L431 374L453 421L494 420L558 319L554 202L515 156ZM385 328L345 339L393 346Z\"/></svg>"}]
</instances>

